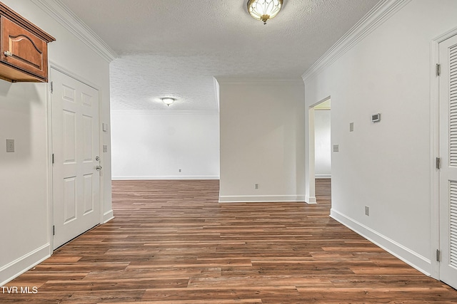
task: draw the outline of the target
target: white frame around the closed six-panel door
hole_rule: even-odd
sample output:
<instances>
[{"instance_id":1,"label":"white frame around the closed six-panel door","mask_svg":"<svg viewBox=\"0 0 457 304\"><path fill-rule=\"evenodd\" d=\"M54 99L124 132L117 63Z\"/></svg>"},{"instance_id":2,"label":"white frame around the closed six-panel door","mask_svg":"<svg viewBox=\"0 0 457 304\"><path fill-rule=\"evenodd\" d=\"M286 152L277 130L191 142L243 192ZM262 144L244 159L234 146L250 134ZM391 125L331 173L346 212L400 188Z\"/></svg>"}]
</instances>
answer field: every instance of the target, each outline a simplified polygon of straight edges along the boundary
<instances>
[{"instance_id":1,"label":"white frame around the closed six-panel door","mask_svg":"<svg viewBox=\"0 0 457 304\"><path fill-rule=\"evenodd\" d=\"M47 104L47 141L48 141L48 227L49 227L49 255L51 256L52 253L54 252L54 237L53 237L53 229L52 226L54 225L54 184L53 184L53 167L52 167L52 103L51 103L51 81L52 81L52 70L56 70L59 73L63 73L71 78L74 78L74 80L77 80L81 83L84 83L85 85L89 85L89 87L94 88L99 92L99 155L100 155L100 165L103 167L104 166L104 157L103 153L103 128L101 126L101 88L94 84L91 83L91 81L87 80L84 77L81 77L81 75L78 75L71 70L67 70L66 68L62 67L61 65L58 65L57 63L54 62L49 62L49 82L47 83L47 90L46 90L46 104ZM99 179L100 179L100 194L99 194L99 207L100 207L100 214L99 214L99 224L104 222L104 179L103 179L103 171L101 171L101 174L99 174Z\"/></svg>"}]
</instances>

